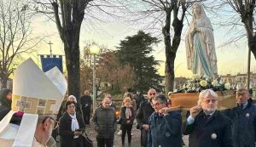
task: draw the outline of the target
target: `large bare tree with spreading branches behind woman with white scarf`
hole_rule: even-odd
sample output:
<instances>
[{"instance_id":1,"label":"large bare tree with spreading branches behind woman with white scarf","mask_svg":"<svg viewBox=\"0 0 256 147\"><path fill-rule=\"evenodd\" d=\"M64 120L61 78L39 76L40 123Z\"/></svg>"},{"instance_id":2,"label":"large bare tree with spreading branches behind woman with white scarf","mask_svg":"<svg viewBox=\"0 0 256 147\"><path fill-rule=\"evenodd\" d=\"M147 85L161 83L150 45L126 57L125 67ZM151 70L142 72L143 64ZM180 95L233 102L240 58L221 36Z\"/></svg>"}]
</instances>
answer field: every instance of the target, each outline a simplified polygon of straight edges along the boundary
<instances>
[{"instance_id":1,"label":"large bare tree with spreading branches behind woman with white scarf","mask_svg":"<svg viewBox=\"0 0 256 147\"><path fill-rule=\"evenodd\" d=\"M80 30L83 20L92 25L93 20L102 19L102 14L109 14L114 8L114 0L31 0L27 8L45 14L49 20L55 21L61 41L64 44L68 93L75 95L79 101L80 82ZM99 14L99 15L96 15ZM54 15L54 18L53 18Z\"/></svg>"}]
</instances>

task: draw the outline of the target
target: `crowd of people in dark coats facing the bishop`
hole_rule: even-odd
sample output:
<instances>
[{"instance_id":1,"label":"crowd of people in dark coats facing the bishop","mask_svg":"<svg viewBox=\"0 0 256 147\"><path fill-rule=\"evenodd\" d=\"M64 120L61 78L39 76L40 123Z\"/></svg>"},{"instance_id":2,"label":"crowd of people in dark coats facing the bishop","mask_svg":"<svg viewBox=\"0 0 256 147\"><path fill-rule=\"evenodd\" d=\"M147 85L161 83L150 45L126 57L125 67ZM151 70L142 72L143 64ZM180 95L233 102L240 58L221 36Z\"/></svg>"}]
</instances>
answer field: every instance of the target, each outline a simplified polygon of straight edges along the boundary
<instances>
[{"instance_id":1,"label":"crowd of people in dark coats facing the bishop","mask_svg":"<svg viewBox=\"0 0 256 147\"><path fill-rule=\"evenodd\" d=\"M0 90L0 118L9 112L11 91ZM236 90L237 106L233 109L217 110L218 94L206 89L199 94L198 105L189 110L186 120L182 120L181 111L171 110L172 99L157 93L154 88L148 95L125 93L119 118L117 106L111 94L107 93L90 119L92 100L89 91L81 97L81 103L70 95L59 110L57 119L42 117L38 119L36 136L48 146L55 146L56 134L60 135L61 147L83 147L85 125L92 125L96 131L98 147L113 147L114 134L120 125L121 144L132 146L132 127L137 122L141 130L142 147L179 147L183 146L182 135L189 135L189 147L254 147L256 141L256 105L250 100L247 89ZM81 105L81 106L80 106ZM44 119L43 119L44 118ZM46 126L52 124L53 137L44 138ZM55 129L57 128L58 129ZM40 143L42 144L42 143Z\"/></svg>"}]
</instances>

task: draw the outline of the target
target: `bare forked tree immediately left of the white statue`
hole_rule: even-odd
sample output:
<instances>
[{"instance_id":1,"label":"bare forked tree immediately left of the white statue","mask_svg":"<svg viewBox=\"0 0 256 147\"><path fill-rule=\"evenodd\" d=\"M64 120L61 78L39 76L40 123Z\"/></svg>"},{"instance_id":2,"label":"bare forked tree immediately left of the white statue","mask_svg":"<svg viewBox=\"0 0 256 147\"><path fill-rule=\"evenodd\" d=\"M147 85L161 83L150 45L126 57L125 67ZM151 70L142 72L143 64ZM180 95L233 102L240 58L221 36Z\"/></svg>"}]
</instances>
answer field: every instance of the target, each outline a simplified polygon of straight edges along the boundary
<instances>
[{"instance_id":1,"label":"bare forked tree immediately left of the white statue","mask_svg":"<svg viewBox=\"0 0 256 147\"><path fill-rule=\"evenodd\" d=\"M142 11L145 16L153 16L153 27L161 24L161 33L164 36L166 50L166 93L173 90L174 61L177 48L181 41L183 20L187 9L195 1L190 0L141 0L147 3L148 8ZM150 27L149 27L150 28ZM152 28L151 28L152 29ZM173 30L173 32L171 32Z\"/></svg>"}]
</instances>

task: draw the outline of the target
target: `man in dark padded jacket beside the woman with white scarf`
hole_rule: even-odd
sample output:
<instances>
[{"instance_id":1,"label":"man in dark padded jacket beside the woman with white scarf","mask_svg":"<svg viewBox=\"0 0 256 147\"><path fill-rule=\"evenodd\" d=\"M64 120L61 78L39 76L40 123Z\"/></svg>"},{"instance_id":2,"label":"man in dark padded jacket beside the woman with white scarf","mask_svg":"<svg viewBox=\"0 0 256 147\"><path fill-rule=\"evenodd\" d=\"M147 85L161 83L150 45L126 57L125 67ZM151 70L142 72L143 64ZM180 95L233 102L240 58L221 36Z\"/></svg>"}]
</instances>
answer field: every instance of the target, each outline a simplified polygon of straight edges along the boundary
<instances>
[{"instance_id":1,"label":"man in dark padded jacket beside the woman with white scarf","mask_svg":"<svg viewBox=\"0 0 256 147\"><path fill-rule=\"evenodd\" d=\"M102 105L96 108L92 118L96 130L96 140L98 147L113 147L113 137L116 131L117 122L115 110L110 107L111 100L104 98Z\"/></svg>"}]
</instances>

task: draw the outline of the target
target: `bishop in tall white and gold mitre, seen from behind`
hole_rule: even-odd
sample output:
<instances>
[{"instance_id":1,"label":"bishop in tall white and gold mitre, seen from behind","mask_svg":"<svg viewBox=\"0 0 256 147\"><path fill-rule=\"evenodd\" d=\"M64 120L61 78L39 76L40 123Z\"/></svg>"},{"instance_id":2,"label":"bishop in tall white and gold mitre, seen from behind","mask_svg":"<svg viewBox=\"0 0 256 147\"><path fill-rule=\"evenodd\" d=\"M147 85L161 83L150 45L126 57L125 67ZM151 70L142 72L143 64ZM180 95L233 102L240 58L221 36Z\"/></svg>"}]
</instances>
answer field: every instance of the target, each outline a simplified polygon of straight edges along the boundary
<instances>
[{"instance_id":1,"label":"bishop in tall white and gold mitre, seen from behind","mask_svg":"<svg viewBox=\"0 0 256 147\"><path fill-rule=\"evenodd\" d=\"M15 71L12 110L0 122L1 146L55 146L50 135L66 91L67 82L56 67L44 73L32 59L22 63Z\"/></svg>"}]
</instances>

